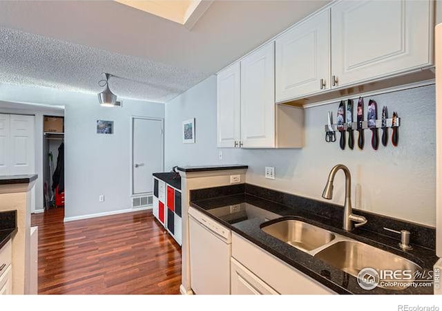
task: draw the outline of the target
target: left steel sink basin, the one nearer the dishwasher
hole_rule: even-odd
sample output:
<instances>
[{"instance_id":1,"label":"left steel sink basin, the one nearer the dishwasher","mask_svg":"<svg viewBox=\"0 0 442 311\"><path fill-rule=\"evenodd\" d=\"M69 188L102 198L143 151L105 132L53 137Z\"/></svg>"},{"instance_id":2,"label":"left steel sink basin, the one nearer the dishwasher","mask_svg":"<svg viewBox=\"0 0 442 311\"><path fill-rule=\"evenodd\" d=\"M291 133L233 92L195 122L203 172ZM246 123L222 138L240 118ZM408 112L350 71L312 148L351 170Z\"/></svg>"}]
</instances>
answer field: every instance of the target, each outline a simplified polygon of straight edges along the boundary
<instances>
[{"instance_id":1,"label":"left steel sink basin, the one nearer the dishwasher","mask_svg":"<svg viewBox=\"0 0 442 311\"><path fill-rule=\"evenodd\" d=\"M335 238L332 232L300 220L282 220L262 227L262 231L305 252L323 246Z\"/></svg>"}]
</instances>

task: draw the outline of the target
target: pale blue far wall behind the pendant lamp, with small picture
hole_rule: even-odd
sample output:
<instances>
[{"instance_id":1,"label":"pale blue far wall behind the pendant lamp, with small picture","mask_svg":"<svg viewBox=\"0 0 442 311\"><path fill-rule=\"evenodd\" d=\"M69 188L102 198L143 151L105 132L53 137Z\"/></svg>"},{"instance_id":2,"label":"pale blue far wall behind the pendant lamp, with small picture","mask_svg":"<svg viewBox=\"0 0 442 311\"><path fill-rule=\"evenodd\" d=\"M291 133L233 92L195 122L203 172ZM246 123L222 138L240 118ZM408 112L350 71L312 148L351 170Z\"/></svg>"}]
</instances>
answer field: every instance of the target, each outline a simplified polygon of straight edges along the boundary
<instances>
[{"instance_id":1,"label":"pale blue far wall behind the pendant lamp, with small picture","mask_svg":"<svg viewBox=\"0 0 442 311\"><path fill-rule=\"evenodd\" d=\"M162 118L164 104L123 100L122 108L108 108L95 94L9 84L0 85L0 100L65 106L66 219L131 209L130 117ZM97 134L97 120L114 121L114 134Z\"/></svg>"}]
</instances>

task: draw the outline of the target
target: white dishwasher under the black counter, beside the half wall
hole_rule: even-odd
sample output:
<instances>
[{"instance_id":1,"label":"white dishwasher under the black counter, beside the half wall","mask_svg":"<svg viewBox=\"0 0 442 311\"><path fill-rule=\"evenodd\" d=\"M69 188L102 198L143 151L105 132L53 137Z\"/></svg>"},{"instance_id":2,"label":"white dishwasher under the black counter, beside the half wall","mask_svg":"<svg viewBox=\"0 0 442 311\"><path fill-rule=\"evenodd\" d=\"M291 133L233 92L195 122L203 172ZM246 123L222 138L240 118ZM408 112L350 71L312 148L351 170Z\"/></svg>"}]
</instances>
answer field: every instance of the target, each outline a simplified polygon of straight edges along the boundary
<instances>
[{"instance_id":1,"label":"white dishwasher under the black counter, beside the half wall","mask_svg":"<svg viewBox=\"0 0 442 311\"><path fill-rule=\"evenodd\" d=\"M191 288L195 294L230 294L231 231L189 208Z\"/></svg>"}]
</instances>

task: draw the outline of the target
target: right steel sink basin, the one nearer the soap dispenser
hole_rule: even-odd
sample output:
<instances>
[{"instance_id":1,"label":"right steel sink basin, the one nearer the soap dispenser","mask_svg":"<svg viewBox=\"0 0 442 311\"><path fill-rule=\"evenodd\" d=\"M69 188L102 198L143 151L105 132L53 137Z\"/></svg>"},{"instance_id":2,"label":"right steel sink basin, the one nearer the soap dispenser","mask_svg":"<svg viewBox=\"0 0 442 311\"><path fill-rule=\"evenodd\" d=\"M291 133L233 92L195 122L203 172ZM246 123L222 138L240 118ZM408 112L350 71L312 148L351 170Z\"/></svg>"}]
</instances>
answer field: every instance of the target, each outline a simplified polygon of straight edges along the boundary
<instances>
[{"instance_id":1,"label":"right steel sink basin, the one nearer the soap dispenser","mask_svg":"<svg viewBox=\"0 0 442 311\"><path fill-rule=\"evenodd\" d=\"M411 270L413 276L417 270L421 270L419 265L408 259L354 241L336 242L318 252L315 257L355 277L365 267L372 267L378 272L380 270ZM389 290L404 290L408 286L405 284L385 288ZM382 288L383 286L380 284L378 287Z\"/></svg>"}]
</instances>

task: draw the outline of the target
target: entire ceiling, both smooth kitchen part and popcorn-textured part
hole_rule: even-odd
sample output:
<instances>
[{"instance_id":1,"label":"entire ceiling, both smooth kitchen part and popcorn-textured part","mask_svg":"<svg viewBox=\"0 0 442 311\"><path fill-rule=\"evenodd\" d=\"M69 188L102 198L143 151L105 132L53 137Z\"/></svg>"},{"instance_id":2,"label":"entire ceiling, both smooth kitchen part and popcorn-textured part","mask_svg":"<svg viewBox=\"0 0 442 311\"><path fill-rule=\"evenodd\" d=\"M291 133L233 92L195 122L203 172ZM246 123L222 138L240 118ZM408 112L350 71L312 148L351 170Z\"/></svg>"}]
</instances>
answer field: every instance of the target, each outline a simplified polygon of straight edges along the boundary
<instances>
[{"instance_id":1,"label":"entire ceiling, both smooth kitchen part and popcorn-textured part","mask_svg":"<svg viewBox=\"0 0 442 311\"><path fill-rule=\"evenodd\" d=\"M328 1L214 1L191 30L115 1L0 1L0 82L167 102Z\"/></svg>"}]
</instances>

